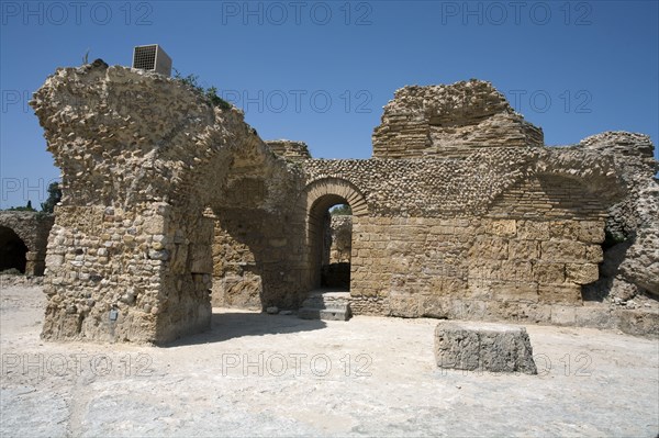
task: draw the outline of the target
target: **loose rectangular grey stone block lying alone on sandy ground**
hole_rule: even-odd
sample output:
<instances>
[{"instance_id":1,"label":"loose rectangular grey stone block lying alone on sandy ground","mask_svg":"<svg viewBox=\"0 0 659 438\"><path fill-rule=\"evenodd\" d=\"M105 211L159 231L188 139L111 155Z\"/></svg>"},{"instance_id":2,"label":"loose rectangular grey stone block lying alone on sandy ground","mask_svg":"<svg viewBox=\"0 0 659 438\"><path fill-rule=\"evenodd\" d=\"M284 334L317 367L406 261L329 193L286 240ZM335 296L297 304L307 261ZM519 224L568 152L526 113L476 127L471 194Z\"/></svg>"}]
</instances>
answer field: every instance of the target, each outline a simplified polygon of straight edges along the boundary
<instances>
[{"instance_id":1,"label":"loose rectangular grey stone block lying alone on sandy ground","mask_svg":"<svg viewBox=\"0 0 659 438\"><path fill-rule=\"evenodd\" d=\"M537 374L526 328L503 324L439 323L435 360L439 368Z\"/></svg>"}]
</instances>

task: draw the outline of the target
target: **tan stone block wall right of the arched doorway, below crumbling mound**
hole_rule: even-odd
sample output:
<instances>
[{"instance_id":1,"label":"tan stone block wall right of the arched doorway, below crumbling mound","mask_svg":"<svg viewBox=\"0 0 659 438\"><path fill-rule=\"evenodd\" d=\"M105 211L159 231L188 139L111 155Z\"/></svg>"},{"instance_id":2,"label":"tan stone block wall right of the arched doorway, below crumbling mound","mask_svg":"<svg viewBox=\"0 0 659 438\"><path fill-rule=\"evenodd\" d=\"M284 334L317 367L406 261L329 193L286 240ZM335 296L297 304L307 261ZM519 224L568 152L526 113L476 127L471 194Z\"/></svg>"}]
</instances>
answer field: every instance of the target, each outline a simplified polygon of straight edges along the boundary
<instances>
[{"instance_id":1,"label":"tan stone block wall right of the arched doorway, below crumbling mound","mask_svg":"<svg viewBox=\"0 0 659 438\"><path fill-rule=\"evenodd\" d=\"M565 166L574 150L548 153L545 162L557 159ZM500 162L492 160L488 168L496 172ZM509 160L502 162L509 166L505 177L491 179L479 196L470 196L470 180L479 179L468 173L470 160L423 161L431 169L467 170L461 180L453 179L463 184L459 190L453 186L418 191L424 179L436 178L434 172L420 176L416 187L407 190L406 178L417 165L384 159L306 162L308 172L351 181L368 200L369 213L354 217L353 224L350 293L356 314L550 322L555 306L582 305L582 287L599 278L612 195L592 183L599 177L593 175L589 183L570 171L515 177ZM406 196L393 203L392 196L369 190L377 180L361 186L367 173L362 168L371 175L387 169L389 178L382 183L396 186ZM483 184L477 181L471 187ZM428 207L420 213L420 205ZM457 303L462 304L456 307ZM490 316L483 306L491 307ZM473 313L477 310L480 313Z\"/></svg>"}]
</instances>

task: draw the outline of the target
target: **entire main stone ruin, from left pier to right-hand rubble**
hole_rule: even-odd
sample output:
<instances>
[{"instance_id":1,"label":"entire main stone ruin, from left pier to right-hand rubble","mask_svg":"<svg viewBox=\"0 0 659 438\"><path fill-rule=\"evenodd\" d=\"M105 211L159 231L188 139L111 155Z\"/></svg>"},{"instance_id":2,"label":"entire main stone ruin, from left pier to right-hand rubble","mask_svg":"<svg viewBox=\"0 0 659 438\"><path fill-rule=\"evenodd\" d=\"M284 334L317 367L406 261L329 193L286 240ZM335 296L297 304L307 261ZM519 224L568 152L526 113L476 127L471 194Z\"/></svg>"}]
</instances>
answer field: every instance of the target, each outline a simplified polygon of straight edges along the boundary
<instances>
[{"instance_id":1,"label":"entire main stone ruin, from left pier to right-hand rubble","mask_svg":"<svg viewBox=\"0 0 659 438\"><path fill-rule=\"evenodd\" d=\"M180 81L101 60L58 69L31 105L63 179L45 339L160 344L208 329L212 305L299 308L336 204L353 212L354 314L657 333L646 135L545 147L470 80L398 90L371 159L314 159Z\"/></svg>"}]
</instances>

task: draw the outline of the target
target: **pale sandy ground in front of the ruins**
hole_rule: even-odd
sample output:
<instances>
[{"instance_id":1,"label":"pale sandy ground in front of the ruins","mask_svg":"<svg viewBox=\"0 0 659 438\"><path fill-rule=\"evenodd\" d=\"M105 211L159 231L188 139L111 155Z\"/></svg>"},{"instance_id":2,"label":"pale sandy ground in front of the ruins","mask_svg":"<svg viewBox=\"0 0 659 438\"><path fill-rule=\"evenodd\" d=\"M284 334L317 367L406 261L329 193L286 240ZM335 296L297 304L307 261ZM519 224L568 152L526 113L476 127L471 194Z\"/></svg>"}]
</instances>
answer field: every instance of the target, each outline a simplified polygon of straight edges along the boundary
<instances>
[{"instance_id":1,"label":"pale sandy ground in front of the ruins","mask_svg":"<svg viewBox=\"0 0 659 438\"><path fill-rule=\"evenodd\" d=\"M0 436L659 433L659 341L528 326L538 375L446 371L434 319L215 310L166 348L43 342L40 288L0 290Z\"/></svg>"}]
</instances>

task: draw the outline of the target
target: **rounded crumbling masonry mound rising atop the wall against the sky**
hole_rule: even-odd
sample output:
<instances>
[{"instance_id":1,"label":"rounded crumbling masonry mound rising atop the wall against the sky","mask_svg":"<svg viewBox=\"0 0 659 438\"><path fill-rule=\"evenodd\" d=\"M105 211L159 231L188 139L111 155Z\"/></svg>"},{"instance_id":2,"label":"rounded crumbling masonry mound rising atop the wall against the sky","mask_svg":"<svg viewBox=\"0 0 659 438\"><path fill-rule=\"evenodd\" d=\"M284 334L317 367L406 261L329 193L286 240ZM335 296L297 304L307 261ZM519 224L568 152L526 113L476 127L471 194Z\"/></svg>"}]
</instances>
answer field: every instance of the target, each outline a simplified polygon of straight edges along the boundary
<instances>
[{"instance_id":1,"label":"rounded crumbling masonry mound rising atop the wall against the sky","mask_svg":"<svg viewBox=\"0 0 659 438\"><path fill-rule=\"evenodd\" d=\"M384 106L373 157L462 156L473 146L543 146L543 131L515 113L490 82L404 87Z\"/></svg>"}]
</instances>

